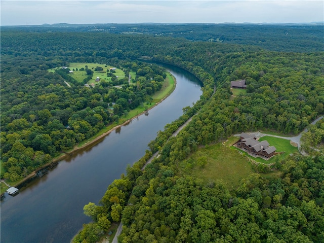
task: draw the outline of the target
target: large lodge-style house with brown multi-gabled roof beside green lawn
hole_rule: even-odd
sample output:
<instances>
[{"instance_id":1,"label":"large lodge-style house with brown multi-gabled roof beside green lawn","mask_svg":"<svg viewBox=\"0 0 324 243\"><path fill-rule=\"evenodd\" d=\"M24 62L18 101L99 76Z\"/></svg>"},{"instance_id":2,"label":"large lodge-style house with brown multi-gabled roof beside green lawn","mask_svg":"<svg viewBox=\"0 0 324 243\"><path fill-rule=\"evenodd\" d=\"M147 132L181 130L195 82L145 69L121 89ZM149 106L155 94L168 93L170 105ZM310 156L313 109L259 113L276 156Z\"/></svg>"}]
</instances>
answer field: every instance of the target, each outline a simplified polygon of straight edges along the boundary
<instances>
[{"instance_id":1,"label":"large lodge-style house with brown multi-gabled roof beside green lawn","mask_svg":"<svg viewBox=\"0 0 324 243\"><path fill-rule=\"evenodd\" d=\"M261 157L266 160L275 155L276 151L276 148L270 146L268 141L264 140L259 142L255 135L250 135L245 132L240 134L239 141L237 141L234 146L248 152L248 154L253 157Z\"/></svg>"}]
</instances>

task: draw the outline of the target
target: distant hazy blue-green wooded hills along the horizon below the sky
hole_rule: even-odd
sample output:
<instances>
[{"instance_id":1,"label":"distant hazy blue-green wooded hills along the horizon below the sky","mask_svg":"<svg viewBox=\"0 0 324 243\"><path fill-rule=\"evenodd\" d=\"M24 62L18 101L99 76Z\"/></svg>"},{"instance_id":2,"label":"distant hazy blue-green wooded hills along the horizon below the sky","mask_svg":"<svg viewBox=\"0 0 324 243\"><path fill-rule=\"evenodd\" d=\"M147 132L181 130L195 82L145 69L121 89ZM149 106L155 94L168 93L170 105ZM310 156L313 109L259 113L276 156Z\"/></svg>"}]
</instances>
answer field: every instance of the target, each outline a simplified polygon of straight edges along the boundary
<instances>
[{"instance_id":1,"label":"distant hazy blue-green wooded hills along the horizon below the sky","mask_svg":"<svg viewBox=\"0 0 324 243\"><path fill-rule=\"evenodd\" d=\"M108 32L185 38L190 41L254 45L272 51L321 51L322 24L53 24L42 26L2 26L33 32Z\"/></svg>"}]
</instances>

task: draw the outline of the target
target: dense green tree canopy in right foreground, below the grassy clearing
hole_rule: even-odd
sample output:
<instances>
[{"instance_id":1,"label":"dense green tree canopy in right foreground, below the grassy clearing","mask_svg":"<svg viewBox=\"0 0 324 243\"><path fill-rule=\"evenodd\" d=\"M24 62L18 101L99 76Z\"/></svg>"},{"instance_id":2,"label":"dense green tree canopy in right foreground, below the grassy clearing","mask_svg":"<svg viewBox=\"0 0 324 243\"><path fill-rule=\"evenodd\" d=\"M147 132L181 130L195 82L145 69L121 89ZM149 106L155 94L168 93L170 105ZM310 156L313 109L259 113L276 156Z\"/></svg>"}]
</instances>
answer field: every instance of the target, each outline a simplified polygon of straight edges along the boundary
<instances>
[{"instance_id":1,"label":"dense green tree canopy in right foreground, below the grassy clearing","mask_svg":"<svg viewBox=\"0 0 324 243\"><path fill-rule=\"evenodd\" d=\"M158 162L146 167L123 212L119 242L324 240L322 156L288 159L282 180L252 175L235 195L220 183L206 187L178 177L176 170Z\"/></svg>"}]
</instances>

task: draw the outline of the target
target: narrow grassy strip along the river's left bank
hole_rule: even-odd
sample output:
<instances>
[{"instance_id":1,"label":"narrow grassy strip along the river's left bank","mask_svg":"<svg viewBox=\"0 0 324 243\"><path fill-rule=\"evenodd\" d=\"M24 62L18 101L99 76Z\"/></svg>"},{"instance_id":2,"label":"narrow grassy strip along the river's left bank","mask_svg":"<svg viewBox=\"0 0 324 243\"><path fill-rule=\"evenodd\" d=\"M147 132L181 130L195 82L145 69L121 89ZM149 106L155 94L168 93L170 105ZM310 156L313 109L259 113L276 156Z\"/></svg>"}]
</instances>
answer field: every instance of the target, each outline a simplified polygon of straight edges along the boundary
<instances>
[{"instance_id":1,"label":"narrow grassy strip along the river's left bank","mask_svg":"<svg viewBox=\"0 0 324 243\"><path fill-rule=\"evenodd\" d=\"M149 110L153 109L155 106L159 105L159 103L163 102L176 88L176 78L169 72L167 72L167 78L164 81L163 87L156 92L154 95L152 95L153 100L144 107L138 107L132 111L130 111L127 115L124 115L123 117L120 117L117 121L113 122L112 124L109 124L105 126L103 129L101 129L96 135L90 137L88 140L85 140L78 145L76 145L73 149L70 149L68 151L65 151L61 155L59 155L56 158L53 158L50 162L44 164L43 166L37 168L33 172L31 172L28 176L23 178L22 180L14 183L13 187L20 187L24 183L28 183L28 181L32 180L34 177L37 176L37 172L41 171L43 169L47 168L53 168L55 167L60 161L65 159L70 154L82 150L85 148L88 148L90 146L95 145L100 139L108 135L110 132L127 125L128 123L132 122L132 120L137 119L139 116L145 114ZM5 194L7 190L7 187L1 187L1 196Z\"/></svg>"}]
</instances>

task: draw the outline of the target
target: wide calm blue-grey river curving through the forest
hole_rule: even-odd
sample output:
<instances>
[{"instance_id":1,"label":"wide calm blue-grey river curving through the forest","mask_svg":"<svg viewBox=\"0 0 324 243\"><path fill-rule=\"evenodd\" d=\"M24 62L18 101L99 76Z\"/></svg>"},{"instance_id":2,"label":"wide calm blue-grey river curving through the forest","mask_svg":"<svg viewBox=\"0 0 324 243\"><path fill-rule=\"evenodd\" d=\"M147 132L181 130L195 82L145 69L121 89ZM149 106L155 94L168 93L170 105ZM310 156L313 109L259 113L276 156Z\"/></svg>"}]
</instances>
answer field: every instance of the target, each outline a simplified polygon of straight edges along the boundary
<instances>
[{"instance_id":1,"label":"wide calm blue-grey river curving through the forest","mask_svg":"<svg viewBox=\"0 0 324 243\"><path fill-rule=\"evenodd\" d=\"M159 130L182 115L200 95L191 74L167 66L177 79L174 92L149 114L112 131L91 148L78 151L38 178L19 194L1 201L1 242L70 242L91 219L83 214L89 202L98 204L108 185L139 160Z\"/></svg>"}]
</instances>

